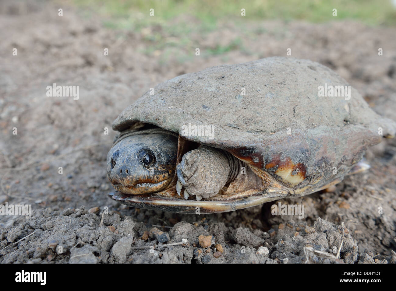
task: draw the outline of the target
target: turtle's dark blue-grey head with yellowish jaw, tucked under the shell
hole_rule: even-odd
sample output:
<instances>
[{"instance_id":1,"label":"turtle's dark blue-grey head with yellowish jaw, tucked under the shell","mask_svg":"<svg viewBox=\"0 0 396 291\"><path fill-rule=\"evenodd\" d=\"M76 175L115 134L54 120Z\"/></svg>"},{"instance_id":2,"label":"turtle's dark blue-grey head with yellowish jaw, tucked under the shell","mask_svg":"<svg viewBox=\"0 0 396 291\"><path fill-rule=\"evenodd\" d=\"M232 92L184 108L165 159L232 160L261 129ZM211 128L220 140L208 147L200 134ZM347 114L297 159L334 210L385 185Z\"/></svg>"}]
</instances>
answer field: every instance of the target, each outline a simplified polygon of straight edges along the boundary
<instances>
[{"instance_id":1,"label":"turtle's dark blue-grey head with yellowish jaw, tucked under the shell","mask_svg":"<svg viewBox=\"0 0 396 291\"><path fill-rule=\"evenodd\" d=\"M160 192L175 175L177 138L166 133L126 137L107 154L107 177L125 194Z\"/></svg>"}]
</instances>

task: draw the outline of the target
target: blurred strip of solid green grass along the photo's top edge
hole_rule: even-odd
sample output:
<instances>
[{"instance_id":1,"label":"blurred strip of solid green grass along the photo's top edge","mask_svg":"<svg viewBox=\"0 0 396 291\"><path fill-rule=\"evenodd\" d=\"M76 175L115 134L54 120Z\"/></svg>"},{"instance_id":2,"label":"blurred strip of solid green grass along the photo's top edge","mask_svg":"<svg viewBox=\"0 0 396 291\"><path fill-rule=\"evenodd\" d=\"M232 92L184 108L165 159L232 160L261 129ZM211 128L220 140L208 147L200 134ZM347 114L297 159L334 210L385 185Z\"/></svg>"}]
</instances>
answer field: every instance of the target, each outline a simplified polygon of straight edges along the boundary
<instances>
[{"instance_id":1,"label":"blurred strip of solid green grass along the photo's top edge","mask_svg":"<svg viewBox=\"0 0 396 291\"><path fill-rule=\"evenodd\" d=\"M355 19L370 25L396 24L396 10L391 0L74 0L101 14L119 21L133 23L164 23L175 17L188 16L202 21L213 29L219 20L240 19L241 9L246 9L246 19L300 19L324 22ZM149 17L150 8L154 17ZM332 15L337 9L337 17ZM125 23L121 25L125 27Z\"/></svg>"}]
</instances>

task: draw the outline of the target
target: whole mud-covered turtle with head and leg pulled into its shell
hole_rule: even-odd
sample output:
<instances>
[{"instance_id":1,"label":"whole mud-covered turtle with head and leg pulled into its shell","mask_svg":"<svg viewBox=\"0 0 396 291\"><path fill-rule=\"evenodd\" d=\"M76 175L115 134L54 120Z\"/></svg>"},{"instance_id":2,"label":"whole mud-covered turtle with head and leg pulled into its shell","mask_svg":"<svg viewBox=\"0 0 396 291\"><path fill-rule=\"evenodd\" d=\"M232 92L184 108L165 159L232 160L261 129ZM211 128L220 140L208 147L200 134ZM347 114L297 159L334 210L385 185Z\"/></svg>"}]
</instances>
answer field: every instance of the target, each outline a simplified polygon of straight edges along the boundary
<instances>
[{"instance_id":1,"label":"whole mud-covered turtle with head and leg pulled into its shell","mask_svg":"<svg viewBox=\"0 0 396 291\"><path fill-rule=\"evenodd\" d=\"M177 76L114 120L107 176L128 206L218 213L299 197L369 168L396 123L341 76L268 57Z\"/></svg>"}]
</instances>

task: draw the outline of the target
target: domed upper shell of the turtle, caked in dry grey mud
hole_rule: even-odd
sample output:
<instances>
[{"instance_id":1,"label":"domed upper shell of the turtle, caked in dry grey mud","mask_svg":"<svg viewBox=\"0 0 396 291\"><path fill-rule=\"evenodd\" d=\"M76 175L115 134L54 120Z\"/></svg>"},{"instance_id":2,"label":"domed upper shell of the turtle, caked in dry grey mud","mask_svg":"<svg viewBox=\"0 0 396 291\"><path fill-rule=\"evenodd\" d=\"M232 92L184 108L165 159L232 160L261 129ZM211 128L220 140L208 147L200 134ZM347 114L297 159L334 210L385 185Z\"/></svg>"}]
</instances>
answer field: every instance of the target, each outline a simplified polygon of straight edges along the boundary
<instances>
[{"instance_id":1,"label":"domed upper shell of the turtle, caked in dry grey mud","mask_svg":"<svg viewBox=\"0 0 396 291\"><path fill-rule=\"evenodd\" d=\"M342 180L367 147L396 132L394 121L345 86L333 70L309 60L269 57L221 65L158 84L127 107L113 129L153 124L227 150L291 194L314 192ZM319 96L322 87L327 95L337 89L335 96ZM214 135L186 130L194 126L210 126Z\"/></svg>"}]
</instances>

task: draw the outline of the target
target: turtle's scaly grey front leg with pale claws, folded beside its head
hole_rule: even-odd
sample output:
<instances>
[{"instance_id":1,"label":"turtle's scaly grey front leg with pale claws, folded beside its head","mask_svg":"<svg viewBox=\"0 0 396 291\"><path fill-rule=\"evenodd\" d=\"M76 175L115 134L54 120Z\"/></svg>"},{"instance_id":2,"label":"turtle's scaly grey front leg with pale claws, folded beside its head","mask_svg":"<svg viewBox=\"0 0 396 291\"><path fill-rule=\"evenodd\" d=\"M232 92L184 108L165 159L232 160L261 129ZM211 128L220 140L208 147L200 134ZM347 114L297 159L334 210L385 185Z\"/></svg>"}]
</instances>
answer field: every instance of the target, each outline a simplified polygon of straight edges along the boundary
<instances>
[{"instance_id":1,"label":"turtle's scaly grey front leg with pale claws, folded beside its head","mask_svg":"<svg viewBox=\"0 0 396 291\"><path fill-rule=\"evenodd\" d=\"M196 200L217 195L221 188L236 176L239 160L231 154L210 146L202 146L187 152L176 167L177 193L185 190L183 196L190 195Z\"/></svg>"}]
</instances>

